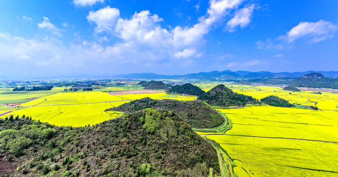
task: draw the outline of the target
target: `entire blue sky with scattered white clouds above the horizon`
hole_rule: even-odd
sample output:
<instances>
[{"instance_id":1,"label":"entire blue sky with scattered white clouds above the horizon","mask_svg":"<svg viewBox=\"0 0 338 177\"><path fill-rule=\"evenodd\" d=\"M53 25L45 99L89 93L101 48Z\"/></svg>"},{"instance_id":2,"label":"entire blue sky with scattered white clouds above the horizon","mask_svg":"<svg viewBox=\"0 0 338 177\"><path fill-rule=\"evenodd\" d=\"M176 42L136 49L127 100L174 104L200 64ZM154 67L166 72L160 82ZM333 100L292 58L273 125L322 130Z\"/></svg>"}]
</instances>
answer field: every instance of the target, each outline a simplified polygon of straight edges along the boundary
<instances>
[{"instance_id":1,"label":"entire blue sky with scattered white clouds above the horizon","mask_svg":"<svg viewBox=\"0 0 338 177\"><path fill-rule=\"evenodd\" d=\"M0 76L338 70L338 0L1 0Z\"/></svg>"}]
</instances>

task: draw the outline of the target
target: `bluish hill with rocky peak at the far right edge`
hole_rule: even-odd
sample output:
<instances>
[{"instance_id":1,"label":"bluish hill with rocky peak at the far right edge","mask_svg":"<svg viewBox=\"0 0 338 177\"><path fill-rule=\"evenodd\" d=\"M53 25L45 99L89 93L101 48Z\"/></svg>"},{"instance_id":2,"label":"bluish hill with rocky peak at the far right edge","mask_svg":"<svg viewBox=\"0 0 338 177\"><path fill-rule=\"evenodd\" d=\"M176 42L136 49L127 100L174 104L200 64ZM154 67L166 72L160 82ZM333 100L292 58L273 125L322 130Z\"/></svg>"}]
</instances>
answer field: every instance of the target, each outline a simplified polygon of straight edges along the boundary
<instances>
[{"instance_id":1,"label":"bluish hill with rocky peak at the far right edge","mask_svg":"<svg viewBox=\"0 0 338 177\"><path fill-rule=\"evenodd\" d=\"M290 86L338 89L338 79L330 79L321 73L313 72L292 81Z\"/></svg>"}]
</instances>

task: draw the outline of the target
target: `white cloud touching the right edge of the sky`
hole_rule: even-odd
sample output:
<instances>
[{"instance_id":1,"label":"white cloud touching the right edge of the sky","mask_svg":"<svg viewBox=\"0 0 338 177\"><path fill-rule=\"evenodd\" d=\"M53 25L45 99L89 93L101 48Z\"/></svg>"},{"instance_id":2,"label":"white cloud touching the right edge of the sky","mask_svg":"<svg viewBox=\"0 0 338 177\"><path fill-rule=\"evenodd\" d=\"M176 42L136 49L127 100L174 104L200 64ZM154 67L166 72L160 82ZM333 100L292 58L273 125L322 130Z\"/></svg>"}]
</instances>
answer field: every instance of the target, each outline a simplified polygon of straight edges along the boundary
<instances>
[{"instance_id":1,"label":"white cloud touching the right edge of the sky","mask_svg":"<svg viewBox=\"0 0 338 177\"><path fill-rule=\"evenodd\" d=\"M288 42L307 36L311 43L323 41L334 36L337 25L331 22L319 20L318 22L301 22L296 27L287 32L286 35L280 36Z\"/></svg>"}]
</instances>

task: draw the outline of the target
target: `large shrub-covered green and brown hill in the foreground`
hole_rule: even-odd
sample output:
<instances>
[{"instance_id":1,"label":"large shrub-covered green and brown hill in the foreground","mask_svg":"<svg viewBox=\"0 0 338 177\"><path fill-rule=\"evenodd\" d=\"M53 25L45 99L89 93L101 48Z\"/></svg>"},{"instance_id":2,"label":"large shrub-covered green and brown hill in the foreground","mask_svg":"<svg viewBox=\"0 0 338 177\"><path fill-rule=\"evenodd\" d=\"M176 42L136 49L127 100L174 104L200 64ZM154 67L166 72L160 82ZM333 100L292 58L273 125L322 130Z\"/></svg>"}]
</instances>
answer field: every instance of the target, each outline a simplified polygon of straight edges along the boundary
<instances>
[{"instance_id":1,"label":"large shrub-covered green and brown hill in the foreground","mask_svg":"<svg viewBox=\"0 0 338 177\"><path fill-rule=\"evenodd\" d=\"M0 119L0 176L219 175L215 149L182 118L146 109L87 127Z\"/></svg>"}]
</instances>

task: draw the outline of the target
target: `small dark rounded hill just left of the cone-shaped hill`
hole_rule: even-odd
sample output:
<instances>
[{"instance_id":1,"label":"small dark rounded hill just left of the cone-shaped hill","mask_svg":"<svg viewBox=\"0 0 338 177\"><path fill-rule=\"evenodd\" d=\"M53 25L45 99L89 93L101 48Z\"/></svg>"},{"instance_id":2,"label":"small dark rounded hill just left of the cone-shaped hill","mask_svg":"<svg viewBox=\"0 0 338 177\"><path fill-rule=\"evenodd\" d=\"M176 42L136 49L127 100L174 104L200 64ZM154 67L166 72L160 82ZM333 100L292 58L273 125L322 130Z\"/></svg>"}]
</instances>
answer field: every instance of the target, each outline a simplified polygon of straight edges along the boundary
<instances>
[{"instance_id":1,"label":"small dark rounded hill just left of the cone-shaped hill","mask_svg":"<svg viewBox=\"0 0 338 177\"><path fill-rule=\"evenodd\" d=\"M192 84L184 84L182 86L174 86L169 89L168 93L179 93L188 95L202 95L205 93L201 88Z\"/></svg>"}]
</instances>

